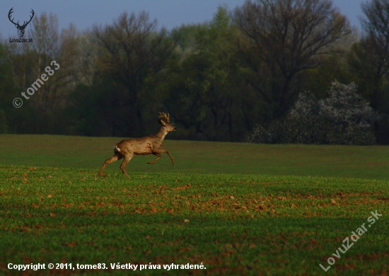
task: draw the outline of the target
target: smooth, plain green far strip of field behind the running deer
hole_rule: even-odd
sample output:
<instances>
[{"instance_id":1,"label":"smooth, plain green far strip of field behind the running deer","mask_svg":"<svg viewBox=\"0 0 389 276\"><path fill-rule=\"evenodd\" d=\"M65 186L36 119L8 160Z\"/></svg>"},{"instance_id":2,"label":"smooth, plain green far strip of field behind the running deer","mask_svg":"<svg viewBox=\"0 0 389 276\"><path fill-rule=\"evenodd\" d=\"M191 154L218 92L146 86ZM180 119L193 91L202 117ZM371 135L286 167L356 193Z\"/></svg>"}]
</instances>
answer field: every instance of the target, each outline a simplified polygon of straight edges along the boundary
<instances>
[{"instance_id":1,"label":"smooth, plain green far strip of field behind the running deer","mask_svg":"<svg viewBox=\"0 0 389 276\"><path fill-rule=\"evenodd\" d=\"M124 139L124 138L123 138ZM56 135L0 135L0 164L88 168L98 172L113 154L115 137L69 137ZM389 146L263 145L165 141L175 166L162 154L134 156L129 173L243 173L272 176L323 176L389 180ZM108 165L120 172L121 161Z\"/></svg>"}]
</instances>

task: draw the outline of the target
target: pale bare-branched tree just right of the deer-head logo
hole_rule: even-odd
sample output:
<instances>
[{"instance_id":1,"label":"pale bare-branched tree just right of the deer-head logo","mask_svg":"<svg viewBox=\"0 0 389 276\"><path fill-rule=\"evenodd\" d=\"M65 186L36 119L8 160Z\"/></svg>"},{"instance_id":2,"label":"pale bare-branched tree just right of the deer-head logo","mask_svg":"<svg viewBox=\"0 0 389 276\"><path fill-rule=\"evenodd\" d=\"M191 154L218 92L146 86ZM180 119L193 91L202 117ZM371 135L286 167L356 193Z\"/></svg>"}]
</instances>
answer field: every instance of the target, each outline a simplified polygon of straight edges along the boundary
<instances>
[{"instance_id":1,"label":"pale bare-branched tree just right of the deer-head logo","mask_svg":"<svg viewBox=\"0 0 389 276\"><path fill-rule=\"evenodd\" d=\"M57 16L42 13L34 19L30 35L35 40L30 47L33 54L30 60L34 74L32 81L40 78L45 68L52 66L50 64L53 60L61 68L50 76L49 81L37 91L37 96L33 99L42 110L51 112L64 104L70 88L74 88L76 57L79 55L78 33L73 24L59 32Z\"/></svg>"}]
</instances>

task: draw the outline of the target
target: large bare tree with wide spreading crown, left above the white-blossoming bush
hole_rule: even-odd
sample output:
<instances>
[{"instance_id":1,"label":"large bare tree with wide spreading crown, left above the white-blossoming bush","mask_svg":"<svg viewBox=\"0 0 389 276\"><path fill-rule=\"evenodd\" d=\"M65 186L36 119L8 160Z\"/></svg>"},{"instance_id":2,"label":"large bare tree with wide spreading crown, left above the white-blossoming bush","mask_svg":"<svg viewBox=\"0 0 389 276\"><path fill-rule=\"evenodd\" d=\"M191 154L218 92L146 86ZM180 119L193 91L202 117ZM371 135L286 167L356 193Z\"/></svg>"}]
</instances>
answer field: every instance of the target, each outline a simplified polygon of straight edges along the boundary
<instances>
[{"instance_id":1,"label":"large bare tree with wide spreading crown, left above the white-blossoming bush","mask_svg":"<svg viewBox=\"0 0 389 276\"><path fill-rule=\"evenodd\" d=\"M257 58L249 62L255 74L248 81L279 113L298 93L297 74L318 67L350 33L349 21L330 0L248 0L234 17Z\"/></svg>"}]
</instances>

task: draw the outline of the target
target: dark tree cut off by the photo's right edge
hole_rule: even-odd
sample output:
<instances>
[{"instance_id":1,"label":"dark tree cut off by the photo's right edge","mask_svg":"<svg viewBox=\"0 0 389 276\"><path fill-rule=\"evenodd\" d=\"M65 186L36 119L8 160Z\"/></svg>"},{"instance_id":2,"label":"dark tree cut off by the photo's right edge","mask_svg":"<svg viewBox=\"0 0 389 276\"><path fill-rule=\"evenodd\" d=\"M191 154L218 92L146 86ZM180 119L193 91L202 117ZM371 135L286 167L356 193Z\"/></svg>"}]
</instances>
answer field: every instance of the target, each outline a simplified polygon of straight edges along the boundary
<instances>
[{"instance_id":1,"label":"dark tree cut off by the photo's right edge","mask_svg":"<svg viewBox=\"0 0 389 276\"><path fill-rule=\"evenodd\" d=\"M389 1L362 4L364 36L349 52L349 71L358 76L361 93L378 111L375 132L378 143L389 143Z\"/></svg>"}]
</instances>

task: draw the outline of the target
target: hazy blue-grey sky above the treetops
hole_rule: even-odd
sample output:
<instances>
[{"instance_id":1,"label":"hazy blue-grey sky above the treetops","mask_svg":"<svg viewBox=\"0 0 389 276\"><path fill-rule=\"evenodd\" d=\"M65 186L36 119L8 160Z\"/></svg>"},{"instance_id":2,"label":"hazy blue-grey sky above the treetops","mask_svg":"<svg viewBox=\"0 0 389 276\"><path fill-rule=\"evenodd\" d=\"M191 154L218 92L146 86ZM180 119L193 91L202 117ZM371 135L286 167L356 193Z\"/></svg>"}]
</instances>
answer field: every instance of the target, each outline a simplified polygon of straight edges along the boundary
<instances>
[{"instance_id":1,"label":"hazy blue-grey sky above the treetops","mask_svg":"<svg viewBox=\"0 0 389 276\"><path fill-rule=\"evenodd\" d=\"M360 29L358 16L362 16L363 1L333 0L333 3L349 18L352 25ZM0 35L3 39L18 35L15 26L8 21L8 11L12 7L13 18L21 21L20 23L29 19L31 8L35 11L35 16L42 12L54 13L58 17L60 30L67 28L70 23L74 23L77 30L86 30L95 23L112 23L124 11L139 13L145 10L149 11L151 19L158 20L159 27L171 30L182 24L211 20L219 5L227 4L228 8L235 8L244 2L245 0L1 0ZM30 25L26 32L29 28Z\"/></svg>"}]
</instances>

